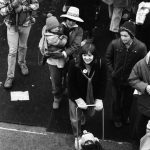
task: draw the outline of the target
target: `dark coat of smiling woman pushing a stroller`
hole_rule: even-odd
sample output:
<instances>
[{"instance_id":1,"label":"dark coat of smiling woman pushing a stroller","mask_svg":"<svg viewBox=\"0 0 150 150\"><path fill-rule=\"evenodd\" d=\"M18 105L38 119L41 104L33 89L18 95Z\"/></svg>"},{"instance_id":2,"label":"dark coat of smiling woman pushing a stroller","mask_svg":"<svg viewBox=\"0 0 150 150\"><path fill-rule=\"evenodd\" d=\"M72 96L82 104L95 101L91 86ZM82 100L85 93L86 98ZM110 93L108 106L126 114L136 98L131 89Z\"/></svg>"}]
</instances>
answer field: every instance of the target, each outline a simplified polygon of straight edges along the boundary
<instances>
[{"instance_id":1,"label":"dark coat of smiling woman pushing a stroller","mask_svg":"<svg viewBox=\"0 0 150 150\"><path fill-rule=\"evenodd\" d=\"M84 66L76 66L76 63L73 60L71 61L68 73L68 89L69 98L72 101L75 101L78 98L82 98L86 101L88 80L83 75L84 69ZM91 76L94 71L95 74L92 78L94 99L104 99L106 70L103 60L101 61L101 67L99 61L93 64L89 76ZM85 75L88 76L87 73L85 73Z\"/></svg>"}]
</instances>

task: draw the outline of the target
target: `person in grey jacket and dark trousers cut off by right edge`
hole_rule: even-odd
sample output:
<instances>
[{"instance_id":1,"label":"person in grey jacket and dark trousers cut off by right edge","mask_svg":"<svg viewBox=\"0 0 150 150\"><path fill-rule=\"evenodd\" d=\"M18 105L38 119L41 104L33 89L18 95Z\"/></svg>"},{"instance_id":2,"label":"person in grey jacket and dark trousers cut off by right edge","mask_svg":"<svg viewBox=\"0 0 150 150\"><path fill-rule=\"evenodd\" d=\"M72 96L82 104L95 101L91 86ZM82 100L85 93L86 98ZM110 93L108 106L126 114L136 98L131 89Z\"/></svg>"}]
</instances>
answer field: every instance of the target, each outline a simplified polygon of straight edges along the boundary
<instances>
[{"instance_id":1,"label":"person in grey jacket and dark trousers cut off by right edge","mask_svg":"<svg viewBox=\"0 0 150 150\"><path fill-rule=\"evenodd\" d=\"M133 124L134 139L140 139L146 131L146 124L150 120L150 52L135 64L129 76L130 85L138 91L137 110Z\"/></svg>"}]
</instances>

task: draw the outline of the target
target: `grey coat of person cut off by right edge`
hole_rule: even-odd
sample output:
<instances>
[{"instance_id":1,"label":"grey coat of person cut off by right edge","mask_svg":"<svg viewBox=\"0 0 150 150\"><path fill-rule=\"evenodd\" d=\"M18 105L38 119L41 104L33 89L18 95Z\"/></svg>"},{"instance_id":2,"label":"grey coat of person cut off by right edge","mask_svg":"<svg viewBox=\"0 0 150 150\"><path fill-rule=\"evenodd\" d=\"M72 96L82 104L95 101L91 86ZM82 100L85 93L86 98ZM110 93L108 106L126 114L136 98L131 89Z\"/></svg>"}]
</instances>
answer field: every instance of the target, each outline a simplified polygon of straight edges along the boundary
<instances>
[{"instance_id":1,"label":"grey coat of person cut off by right edge","mask_svg":"<svg viewBox=\"0 0 150 150\"><path fill-rule=\"evenodd\" d=\"M150 85L150 52L139 62L135 64L129 76L129 84L138 90L141 95L138 95L139 111L150 117L150 95L146 92L147 85Z\"/></svg>"}]
</instances>

